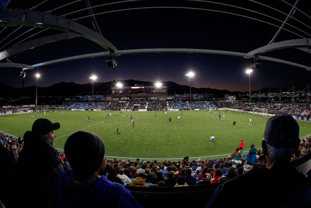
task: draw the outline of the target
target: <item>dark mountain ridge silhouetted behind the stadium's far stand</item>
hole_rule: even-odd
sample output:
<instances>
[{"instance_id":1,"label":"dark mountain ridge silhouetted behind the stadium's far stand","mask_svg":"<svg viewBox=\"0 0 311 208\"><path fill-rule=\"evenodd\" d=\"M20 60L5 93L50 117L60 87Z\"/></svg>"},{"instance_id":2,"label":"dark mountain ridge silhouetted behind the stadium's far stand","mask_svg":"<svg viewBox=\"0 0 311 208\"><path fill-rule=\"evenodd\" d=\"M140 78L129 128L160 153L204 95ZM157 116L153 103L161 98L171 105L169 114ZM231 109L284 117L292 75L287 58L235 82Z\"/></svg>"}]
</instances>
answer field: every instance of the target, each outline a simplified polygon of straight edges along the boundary
<instances>
[{"instance_id":1,"label":"dark mountain ridge silhouetted behind the stadium's far stand","mask_svg":"<svg viewBox=\"0 0 311 208\"><path fill-rule=\"evenodd\" d=\"M114 80L109 82L95 82L94 83L94 94L104 95L111 94L111 87L116 85L116 82L121 81L123 86L133 86L135 84L143 84L146 86L154 85L153 82L144 82L139 80ZM169 89L169 94L185 94L189 93L188 85L179 85L172 81L162 82L163 85L167 86ZM16 98L16 97L34 97L35 96L35 86L29 86L24 88L13 88L5 83L0 83L0 98ZM262 90L262 92L267 89ZM277 89L271 89L272 92ZM284 89L283 91L285 91ZM214 94L215 98L224 98L225 94L238 95L246 94L247 92L229 90L219 90L211 88L195 88L191 87L191 92L196 94ZM72 97L78 95L91 95L92 94L92 84L76 84L73 82L60 82L48 87L38 87L38 95L41 96L61 96L61 97Z\"/></svg>"}]
</instances>

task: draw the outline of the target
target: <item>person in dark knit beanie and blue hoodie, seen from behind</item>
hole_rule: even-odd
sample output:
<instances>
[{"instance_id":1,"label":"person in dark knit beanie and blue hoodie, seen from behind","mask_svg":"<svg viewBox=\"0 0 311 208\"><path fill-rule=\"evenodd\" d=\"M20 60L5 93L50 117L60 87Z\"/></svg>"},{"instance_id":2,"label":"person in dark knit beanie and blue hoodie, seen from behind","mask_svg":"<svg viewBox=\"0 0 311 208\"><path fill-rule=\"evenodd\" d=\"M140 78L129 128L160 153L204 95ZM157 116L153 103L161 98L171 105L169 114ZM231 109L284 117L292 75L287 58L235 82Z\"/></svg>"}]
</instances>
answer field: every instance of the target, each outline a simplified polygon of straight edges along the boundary
<instances>
[{"instance_id":1,"label":"person in dark knit beanie and blue hoodie, seen from behind","mask_svg":"<svg viewBox=\"0 0 311 208\"><path fill-rule=\"evenodd\" d=\"M106 179L105 146L96 134L73 133L64 152L72 169L58 175L59 207L142 207L123 185Z\"/></svg>"}]
</instances>

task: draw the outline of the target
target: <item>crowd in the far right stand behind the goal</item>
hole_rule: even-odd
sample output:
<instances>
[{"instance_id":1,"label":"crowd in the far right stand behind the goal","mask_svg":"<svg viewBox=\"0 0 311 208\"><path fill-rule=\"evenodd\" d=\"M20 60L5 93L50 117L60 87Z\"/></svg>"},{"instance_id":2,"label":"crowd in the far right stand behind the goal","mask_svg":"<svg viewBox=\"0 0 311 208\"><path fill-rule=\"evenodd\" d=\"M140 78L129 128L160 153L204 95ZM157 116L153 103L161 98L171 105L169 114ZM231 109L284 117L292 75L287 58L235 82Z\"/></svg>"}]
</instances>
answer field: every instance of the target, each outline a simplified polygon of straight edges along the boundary
<instances>
[{"instance_id":1,"label":"crowd in the far right stand behind the goal","mask_svg":"<svg viewBox=\"0 0 311 208\"><path fill-rule=\"evenodd\" d=\"M311 104L307 102L239 102L231 108L253 111L253 108L267 109L268 114L290 114L294 116L311 116Z\"/></svg>"}]
</instances>

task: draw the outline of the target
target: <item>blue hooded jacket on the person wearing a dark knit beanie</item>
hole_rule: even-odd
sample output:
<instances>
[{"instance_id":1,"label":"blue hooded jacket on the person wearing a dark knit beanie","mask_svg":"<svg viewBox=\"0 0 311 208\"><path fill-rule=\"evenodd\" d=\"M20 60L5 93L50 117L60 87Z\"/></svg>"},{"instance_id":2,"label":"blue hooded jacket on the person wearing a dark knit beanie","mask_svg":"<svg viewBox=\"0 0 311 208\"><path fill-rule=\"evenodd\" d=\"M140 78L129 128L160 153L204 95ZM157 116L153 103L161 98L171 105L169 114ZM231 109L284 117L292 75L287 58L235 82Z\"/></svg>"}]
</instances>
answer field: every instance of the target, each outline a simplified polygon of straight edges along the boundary
<instances>
[{"instance_id":1,"label":"blue hooded jacket on the person wearing a dark knit beanie","mask_svg":"<svg viewBox=\"0 0 311 208\"><path fill-rule=\"evenodd\" d=\"M63 171L57 181L58 205L69 207L142 207L123 185L104 176L78 181L72 170Z\"/></svg>"}]
</instances>

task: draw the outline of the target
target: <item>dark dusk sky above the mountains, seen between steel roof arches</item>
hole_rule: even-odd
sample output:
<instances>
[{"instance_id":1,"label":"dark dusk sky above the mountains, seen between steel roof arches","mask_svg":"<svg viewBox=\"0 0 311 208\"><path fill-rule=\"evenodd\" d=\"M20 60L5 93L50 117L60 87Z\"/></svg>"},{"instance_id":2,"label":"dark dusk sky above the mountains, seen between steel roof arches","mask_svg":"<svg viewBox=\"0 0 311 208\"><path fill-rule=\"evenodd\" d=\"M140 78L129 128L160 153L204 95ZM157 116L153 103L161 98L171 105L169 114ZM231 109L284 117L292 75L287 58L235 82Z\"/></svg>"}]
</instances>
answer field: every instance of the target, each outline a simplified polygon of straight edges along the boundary
<instances>
[{"instance_id":1,"label":"dark dusk sky above the mountains, seen between steel roof arches","mask_svg":"<svg viewBox=\"0 0 311 208\"><path fill-rule=\"evenodd\" d=\"M72 1L49 0L34 10L44 12ZM295 3L295 0L286 1L292 5ZM26 9L34 7L40 2L43 2L43 0L12 0L9 2L7 8ZM91 6L99 5L100 3L98 2L99 1L90 0ZM108 3L114 1L100 2ZM247 0L223 0L217 2L234 4L235 6L262 12L281 20L286 18L286 16L281 13ZM290 6L281 0L258 0L258 2L269 4L269 6L275 7L285 13L288 13L291 9ZM310 10L306 9L309 7L307 2L307 0L301 0L298 8L311 16ZM123 2L94 8L93 12L96 14L119 9L163 6L221 10L258 18L279 26L281 25L281 22L277 22L253 12L224 5L186 0L144 0ZM63 7L51 14L62 15L82 8L85 8L83 1ZM66 18L73 19L86 15L88 15L88 13L83 11L68 15ZM293 17L299 19L308 26L311 26L311 18L303 15L299 11L296 11ZM258 47L267 45L278 30L277 27L244 17L237 17L219 12L176 8L152 8L112 12L109 14L98 15L96 16L96 20L103 36L119 50L145 48L193 48L247 53ZM90 17L78 20L77 22L94 30ZM311 34L310 28L297 23L293 19L288 23ZM2 30L2 28L0 27L0 30ZM305 38L310 38L303 32L289 26L286 26L285 28L294 31ZM10 27L0 33L0 41L15 29L16 27ZM30 27L23 27L20 31L16 32L16 34L14 33L11 35L5 41L0 43L0 48L28 29L30 29ZM42 29L34 29L28 36L40 30ZM62 31L53 31L52 29L49 29L45 33L41 33L39 36L34 36L28 40L57 33L62 33ZM13 41L12 44L17 43L26 37L27 35L23 35ZM282 31L280 36L276 39L276 42L290 39L300 39L300 37L293 35L288 31ZM8 44L7 46L12 46L12 44ZM15 63L33 65L44 61L102 51L106 50L89 40L78 37L40 46L22 52L16 57L9 58L9 60ZM311 55L294 48L281 49L262 55L310 66L309 60ZM37 72L42 75L38 80L38 86L40 87L49 86L61 81L85 84L90 82L89 77L93 74L98 76L97 81L99 82L134 79L153 82L174 81L178 84L188 85L189 82L185 74L192 70L196 73L192 82L192 86L194 87L210 87L216 89L228 89L231 91L248 91L249 87L248 75L245 74L245 70L249 67L250 59L245 59L243 57L191 53L129 54L116 57L118 66L115 68L108 68L106 66L106 58L107 57L97 57L73 60L35 68L29 71L25 86L36 84L36 78L34 75ZM263 86L268 87L269 84L271 84L272 87L291 88L293 85L296 87L305 87L310 83L311 71L270 61L259 60L259 62L262 63L262 67L260 70L254 71L250 76L252 90L260 89ZM20 69L1 68L0 70L2 82L13 87L21 86L21 80L19 78Z\"/></svg>"}]
</instances>

